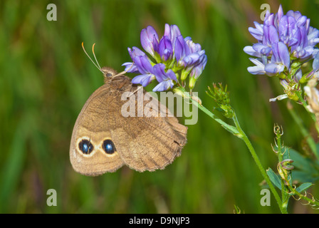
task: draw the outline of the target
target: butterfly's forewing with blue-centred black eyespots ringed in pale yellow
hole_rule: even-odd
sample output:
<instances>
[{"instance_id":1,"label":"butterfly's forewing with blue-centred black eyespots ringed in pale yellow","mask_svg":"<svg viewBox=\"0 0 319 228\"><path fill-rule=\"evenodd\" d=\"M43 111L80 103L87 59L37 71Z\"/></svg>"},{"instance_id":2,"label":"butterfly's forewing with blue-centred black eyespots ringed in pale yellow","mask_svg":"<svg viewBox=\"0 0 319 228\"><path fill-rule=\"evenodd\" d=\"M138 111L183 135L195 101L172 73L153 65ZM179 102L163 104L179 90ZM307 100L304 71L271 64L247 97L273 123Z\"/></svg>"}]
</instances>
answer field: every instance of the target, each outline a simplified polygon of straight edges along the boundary
<instances>
[{"instance_id":1,"label":"butterfly's forewing with blue-centred black eyespots ringed in pale yellow","mask_svg":"<svg viewBox=\"0 0 319 228\"><path fill-rule=\"evenodd\" d=\"M70 142L70 162L83 175L115 172L124 162L117 151L105 152L105 141L112 140L106 122L110 88L103 85L88 98L73 128ZM116 148L116 147L115 147Z\"/></svg>"}]
</instances>

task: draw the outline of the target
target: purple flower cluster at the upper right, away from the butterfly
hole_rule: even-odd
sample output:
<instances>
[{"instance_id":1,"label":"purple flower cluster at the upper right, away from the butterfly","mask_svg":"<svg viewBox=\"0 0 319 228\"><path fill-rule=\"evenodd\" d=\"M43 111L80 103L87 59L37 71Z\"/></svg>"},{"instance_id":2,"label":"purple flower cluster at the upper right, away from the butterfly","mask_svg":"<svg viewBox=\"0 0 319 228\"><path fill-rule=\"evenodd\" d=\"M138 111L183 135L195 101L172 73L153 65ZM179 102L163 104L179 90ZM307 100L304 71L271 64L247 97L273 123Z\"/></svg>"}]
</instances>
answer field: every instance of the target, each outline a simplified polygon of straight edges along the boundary
<instances>
[{"instance_id":1,"label":"purple flower cluster at the upper right, away from the butterfly","mask_svg":"<svg viewBox=\"0 0 319 228\"><path fill-rule=\"evenodd\" d=\"M244 51L256 66L248 68L252 74L279 76L282 79L300 80L303 73L300 66L318 53L319 31L310 26L310 19L299 11L283 14L279 6L277 14L268 11L263 24L254 22L256 28L249 28L258 43L246 46Z\"/></svg>"}]
</instances>

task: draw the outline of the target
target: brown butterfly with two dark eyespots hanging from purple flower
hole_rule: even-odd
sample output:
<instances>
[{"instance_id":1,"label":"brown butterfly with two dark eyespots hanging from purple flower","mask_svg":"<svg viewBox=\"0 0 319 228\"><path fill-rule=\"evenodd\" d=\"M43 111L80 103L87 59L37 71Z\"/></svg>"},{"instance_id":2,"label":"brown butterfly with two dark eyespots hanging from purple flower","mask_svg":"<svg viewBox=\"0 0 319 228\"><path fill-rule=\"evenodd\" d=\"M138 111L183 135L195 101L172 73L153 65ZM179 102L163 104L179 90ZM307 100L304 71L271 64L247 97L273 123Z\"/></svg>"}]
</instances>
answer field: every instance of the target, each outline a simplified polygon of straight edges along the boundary
<instances>
[{"instance_id":1,"label":"brown butterfly with two dark eyespots hanging from purple flower","mask_svg":"<svg viewBox=\"0 0 319 228\"><path fill-rule=\"evenodd\" d=\"M140 172L164 169L181 154L187 142L187 127L174 116L161 117L160 110L167 114L169 110L155 98L151 100L157 102L158 108L152 111L158 115L124 117L121 108L127 100L121 99L122 93L137 96L139 88L112 68L100 71L105 84L90 95L73 128L70 142L73 169L90 176L115 172L122 165ZM147 102L135 105L137 110L145 108Z\"/></svg>"}]
</instances>

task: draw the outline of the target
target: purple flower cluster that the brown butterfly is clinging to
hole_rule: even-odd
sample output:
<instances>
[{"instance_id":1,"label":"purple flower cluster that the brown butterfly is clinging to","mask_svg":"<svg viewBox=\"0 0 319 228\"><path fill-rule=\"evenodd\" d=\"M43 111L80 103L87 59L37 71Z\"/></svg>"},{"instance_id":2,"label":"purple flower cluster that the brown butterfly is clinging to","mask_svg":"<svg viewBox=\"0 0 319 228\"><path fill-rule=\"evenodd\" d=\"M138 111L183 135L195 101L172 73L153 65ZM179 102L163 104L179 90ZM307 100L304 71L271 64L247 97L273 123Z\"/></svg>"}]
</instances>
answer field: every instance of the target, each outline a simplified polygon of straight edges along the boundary
<instances>
[{"instance_id":1,"label":"purple flower cluster that the brown butterfly is clinging to","mask_svg":"<svg viewBox=\"0 0 319 228\"><path fill-rule=\"evenodd\" d=\"M184 82L189 76L189 88L194 88L197 78L202 74L207 62L205 51L192 38L183 38L176 25L165 24L164 36L159 39L152 26L142 29L142 47L154 58L137 47L128 48L133 62L123 63L125 71L140 73L132 83L147 86L156 79L159 83L153 91L164 91ZM179 76L180 73L180 76Z\"/></svg>"}]
</instances>

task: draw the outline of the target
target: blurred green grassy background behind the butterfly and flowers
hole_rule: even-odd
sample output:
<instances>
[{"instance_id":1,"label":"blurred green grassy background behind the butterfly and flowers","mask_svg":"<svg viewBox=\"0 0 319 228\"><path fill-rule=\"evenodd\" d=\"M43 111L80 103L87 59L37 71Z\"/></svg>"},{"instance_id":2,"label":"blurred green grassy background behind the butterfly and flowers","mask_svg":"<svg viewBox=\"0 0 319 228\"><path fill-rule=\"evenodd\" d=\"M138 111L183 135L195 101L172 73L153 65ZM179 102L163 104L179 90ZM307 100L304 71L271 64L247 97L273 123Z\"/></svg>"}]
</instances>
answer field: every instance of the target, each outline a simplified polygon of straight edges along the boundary
<instances>
[{"instance_id":1,"label":"blurred green grassy background behind the butterfly and flowers","mask_svg":"<svg viewBox=\"0 0 319 228\"><path fill-rule=\"evenodd\" d=\"M46 6L57 6L57 21L48 21ZM165 170L85 177L69 161L70 137L85 100L103 77L85 56L95 45L100 65L122 71L130 61L127 47L140 47L148 25L159 36L164 24L177 24L205 49L208 63L194 91L206 108L214 103L205 90L228 85L241 127L249 135L264 167L276 170L273 125L283 126L285 145L303 150L298 128L286 110L276 78L253 76L244 46L256 42L248 32L261 23L264 1L0 1L0 212L2 213L278 213L262 207L263 178L244 142L199 110L189 125L182 156ZM298 10L319 27L319 1L268 1L271 12ZM130 74L132 77L133 75ZM295 105L313 130L303 108ZM217 113L218 115L218 113ZM222 117L221 117L222 118ZM56 207L46 205L55 189ZM318 186L312 187L319 195ZM289 212L314 213L291 199Z\"/></svg>"}]
</instances>

